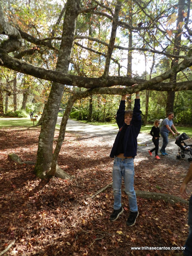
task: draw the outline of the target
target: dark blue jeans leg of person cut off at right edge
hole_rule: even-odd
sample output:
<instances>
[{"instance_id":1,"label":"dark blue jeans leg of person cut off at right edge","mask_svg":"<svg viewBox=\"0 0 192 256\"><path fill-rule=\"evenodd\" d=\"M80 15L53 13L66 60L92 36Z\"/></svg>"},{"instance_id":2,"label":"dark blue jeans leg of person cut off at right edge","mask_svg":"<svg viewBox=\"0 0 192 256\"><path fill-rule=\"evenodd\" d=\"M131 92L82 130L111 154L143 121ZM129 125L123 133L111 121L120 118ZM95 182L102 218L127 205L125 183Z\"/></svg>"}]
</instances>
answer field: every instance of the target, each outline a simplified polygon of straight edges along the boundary
<instances>
[{"instance_id":1,"label":"dark blue jeans leg of person cut off at right edge","mask_svg":"<svg viewBox=\"0 0 192 256\"><path fill-rule=\"evenodd\" d=\"M192 256L192 195L189 200L188 224L189 224L189 235L185 243L185 250L183 251L183 254L186 256Z\"/></svg>"}]
</instances>

